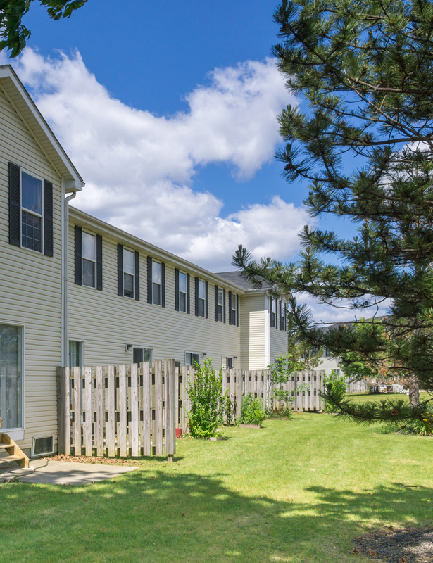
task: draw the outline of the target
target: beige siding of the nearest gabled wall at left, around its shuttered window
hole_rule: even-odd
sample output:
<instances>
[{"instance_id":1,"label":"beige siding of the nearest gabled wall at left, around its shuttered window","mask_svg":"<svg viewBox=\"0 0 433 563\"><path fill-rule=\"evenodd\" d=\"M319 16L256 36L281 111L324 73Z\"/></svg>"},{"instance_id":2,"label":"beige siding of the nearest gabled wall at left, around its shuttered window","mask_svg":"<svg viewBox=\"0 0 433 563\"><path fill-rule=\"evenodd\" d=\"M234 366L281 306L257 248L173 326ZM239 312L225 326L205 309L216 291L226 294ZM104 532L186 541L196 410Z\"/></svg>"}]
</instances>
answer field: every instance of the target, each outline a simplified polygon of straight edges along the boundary
<instances>
[{"instance_id":1,"label":"beige siding of the nearest gabled wall at left, around its shuttered window","mask_svg":"<svg viewBox=\"0 0 433 563\"><path fill-rule=\"evenodd\" d=\"M61 179L0 87L0 322L24 334L25 437L56 434L61 364ZM54 257L8 243L8 162L53 184ZM56 440L55 440L56 441Z\"/></svg>"}]
</instances>

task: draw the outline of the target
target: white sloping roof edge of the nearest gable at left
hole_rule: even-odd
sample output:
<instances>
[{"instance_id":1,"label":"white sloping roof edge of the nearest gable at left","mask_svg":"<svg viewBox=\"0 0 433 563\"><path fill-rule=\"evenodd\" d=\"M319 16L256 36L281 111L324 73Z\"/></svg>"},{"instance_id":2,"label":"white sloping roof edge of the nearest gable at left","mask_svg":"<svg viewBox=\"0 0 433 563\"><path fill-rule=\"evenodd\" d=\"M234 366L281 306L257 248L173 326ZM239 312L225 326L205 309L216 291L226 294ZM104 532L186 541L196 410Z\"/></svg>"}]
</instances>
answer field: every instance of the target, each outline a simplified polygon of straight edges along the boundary
<instances>
[{"instance_id":1,"label":"white sloping roof edge of the nearest gable at left","mask_svg":"<svg viewBox=\"0 0 433 563\"><path fill-rule=\"evenodd\" d=\"M65 167L65 170L63 172L66 173L63 173L63 175L65 176L65 182L67 184L66 191L67 192L81 191L82 188L84 187L84 182L82 180L82 177L77 172L75 166L70 161L68 155L65 153L63 146L61 146L58 139L51 131L51 128L49 127L48 123L42 117L42 113L40 113L40 111L38 110L36 104L34 103L30 94L23 86L23 83L20 81L18 75L16 75L15 70L13 70L11 65L0 65L0 80L5 80L5 79L9 79L11 80L11 82L13 82L15 89L18 91L21 98L25 102L27 109L30 110L30 112L32 113L32 116L37 121L37 125L39 125L39 127L42 129L46 139L49 141L51 146L53 146L54 150L58 155L58 158L60 158L63 166Z\"/></svg>"}]
</instances>

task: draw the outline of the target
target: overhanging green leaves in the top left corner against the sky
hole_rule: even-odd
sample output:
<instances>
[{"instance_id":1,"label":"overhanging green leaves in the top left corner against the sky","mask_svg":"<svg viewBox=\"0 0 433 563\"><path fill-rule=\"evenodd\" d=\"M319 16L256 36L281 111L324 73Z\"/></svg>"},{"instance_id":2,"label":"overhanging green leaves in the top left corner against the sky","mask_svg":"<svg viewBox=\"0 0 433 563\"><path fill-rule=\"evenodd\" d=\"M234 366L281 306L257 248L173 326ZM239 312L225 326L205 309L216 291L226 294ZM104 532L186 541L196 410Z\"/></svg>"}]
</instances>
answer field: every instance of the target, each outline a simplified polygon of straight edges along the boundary
<instances>
[{"instance_id":1,"label":"overhanging green leaves in the top left corner against the sky","mask_svg":"<svg viewBox=\"0 0 433 563\"><path fill-rule=\"evenodd\" d=\"M0 51L8 49L11 57L23 51L30 30L23 25L23 16L29 11L34 0L0 0ZM69 0L60 2L56 0L39 0L52 20L70 18L77 8L81 8L87 0Z\"/></svg>"}]
</instances>

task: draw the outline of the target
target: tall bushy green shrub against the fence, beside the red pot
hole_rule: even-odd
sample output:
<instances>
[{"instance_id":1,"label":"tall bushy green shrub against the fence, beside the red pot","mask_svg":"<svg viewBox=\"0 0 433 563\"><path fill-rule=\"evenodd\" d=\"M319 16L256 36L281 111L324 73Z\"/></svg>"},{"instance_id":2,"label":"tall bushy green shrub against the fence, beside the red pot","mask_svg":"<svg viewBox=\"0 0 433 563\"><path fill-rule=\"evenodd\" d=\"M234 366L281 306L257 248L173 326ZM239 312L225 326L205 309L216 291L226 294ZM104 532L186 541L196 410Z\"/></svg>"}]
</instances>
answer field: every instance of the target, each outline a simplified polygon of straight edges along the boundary
<instances>
[{"instance_id":1,"label":"tall bushy green shrub against the fence, beside the red pot","mask_svg":"<svg viewBox=\"0 0 433 563\"><path fill-rule=\"evenodd\" d=\"M194 382L189 380L187 393L191 410L187 413L189 432L194 438L217 436L222 424L225 398L222 395L222 371L215 372L210 358L203 365L194 362Z\"/></svg>"}]
</instances>

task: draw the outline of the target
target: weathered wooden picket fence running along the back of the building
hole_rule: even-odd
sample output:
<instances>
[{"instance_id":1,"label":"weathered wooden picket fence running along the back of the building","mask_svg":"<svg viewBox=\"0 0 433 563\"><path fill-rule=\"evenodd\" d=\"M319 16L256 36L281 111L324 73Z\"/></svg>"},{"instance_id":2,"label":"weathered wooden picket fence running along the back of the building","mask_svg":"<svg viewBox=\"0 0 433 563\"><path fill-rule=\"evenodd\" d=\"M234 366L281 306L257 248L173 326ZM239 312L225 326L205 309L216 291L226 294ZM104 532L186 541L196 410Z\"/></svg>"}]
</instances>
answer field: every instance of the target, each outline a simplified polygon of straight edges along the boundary
<instances>
[{"instance_id":1,"label":"weathered wooden picket fence running along the back of the building","mask_svg":"<svg viewBox=\"0 0 433 563\"><path fill-rule=\"evenodd\" d=\"M176 451L176 428L188 431L187 388L194 384L194 367L176 367L175 360L153 363L58 367L58 450L70 455L168 455ZM293 397L296 411L321 411L319 391L325 372L293 374L278 388ZM352 390L354 389L354 390ZM366 384L348 384L361 393ZM284 405L274 398L275 384L267 369L222 369L222 391L230 397L224 422L241 414L241 397L261 398L267 410Z\"/></svg>"}]
</instances>

